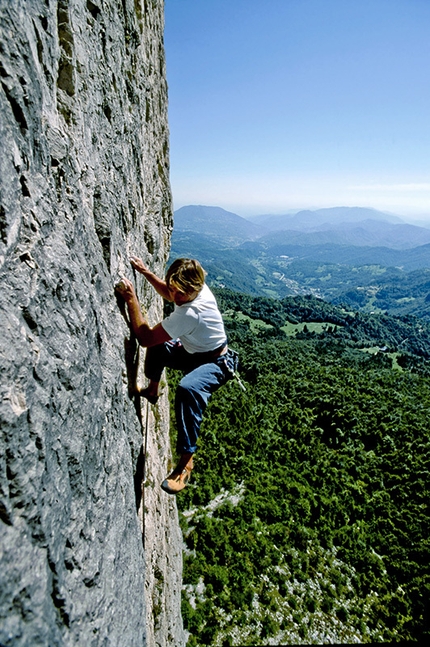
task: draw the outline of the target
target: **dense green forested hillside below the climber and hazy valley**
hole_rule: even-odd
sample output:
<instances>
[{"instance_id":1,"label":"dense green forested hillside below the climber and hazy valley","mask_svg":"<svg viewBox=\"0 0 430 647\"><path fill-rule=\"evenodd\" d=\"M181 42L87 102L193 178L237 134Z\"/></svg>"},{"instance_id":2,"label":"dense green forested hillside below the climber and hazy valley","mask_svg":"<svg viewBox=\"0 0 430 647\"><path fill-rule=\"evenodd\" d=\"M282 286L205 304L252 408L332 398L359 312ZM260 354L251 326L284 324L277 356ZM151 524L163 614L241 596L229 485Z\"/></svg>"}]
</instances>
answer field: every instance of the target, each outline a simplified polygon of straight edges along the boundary
<instances>
[{"instance_id":1,"label":"dense green forested hillside below the climber and hazy valley","mask_svg":"<svg viewBox=\"0 0 430 647\"><path fill-rule=\"evenodd\" d=\"M177 498L188 645L428 639L428 325L217 297L246 392L214 395Z\"/></svg>"}]
</instances>

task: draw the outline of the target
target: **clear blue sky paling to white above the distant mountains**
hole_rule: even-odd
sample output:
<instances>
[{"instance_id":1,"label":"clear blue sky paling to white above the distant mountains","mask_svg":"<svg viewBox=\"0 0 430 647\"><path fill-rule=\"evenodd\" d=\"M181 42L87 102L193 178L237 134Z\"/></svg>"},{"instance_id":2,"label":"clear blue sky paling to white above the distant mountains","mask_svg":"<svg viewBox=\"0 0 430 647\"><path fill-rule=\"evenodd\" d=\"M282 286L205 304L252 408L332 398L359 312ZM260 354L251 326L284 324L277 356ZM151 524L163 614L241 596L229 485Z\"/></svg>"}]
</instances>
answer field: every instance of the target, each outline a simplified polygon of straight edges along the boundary
<instances>
[{"instance_id":1,"label":"clear blue sky paling to white above the distant mountains","mask_svg":"<svg viewBox=\"0 0 430 647\"><path fill-rule=\"evenodd\" d=\"M430 217L430 0L165 0L175 208Z\"/></svg>"}]
</instances>

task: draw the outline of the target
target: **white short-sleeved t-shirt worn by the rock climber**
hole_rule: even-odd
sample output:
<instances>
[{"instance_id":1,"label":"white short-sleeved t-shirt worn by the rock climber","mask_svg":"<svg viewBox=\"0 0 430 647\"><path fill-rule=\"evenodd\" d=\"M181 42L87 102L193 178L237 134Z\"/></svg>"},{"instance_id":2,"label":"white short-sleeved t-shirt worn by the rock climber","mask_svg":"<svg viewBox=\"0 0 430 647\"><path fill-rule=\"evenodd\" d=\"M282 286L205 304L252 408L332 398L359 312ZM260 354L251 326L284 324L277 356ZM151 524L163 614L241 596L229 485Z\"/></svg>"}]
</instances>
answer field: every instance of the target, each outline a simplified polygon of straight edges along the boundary
<instances>
[{"instance_id":1,"label":"white short-sleeved t-shirt worn by the rock climber","mask_svg":"<svg viewBox=\"0 0 430 647\"><path fill-rule=\"evenodd\" d=\"M215 350L227 339L217 302L206 284L193 301L175 305L161 325L172 339L181 340L188 353Z\"/></svg>"}]
</instances>

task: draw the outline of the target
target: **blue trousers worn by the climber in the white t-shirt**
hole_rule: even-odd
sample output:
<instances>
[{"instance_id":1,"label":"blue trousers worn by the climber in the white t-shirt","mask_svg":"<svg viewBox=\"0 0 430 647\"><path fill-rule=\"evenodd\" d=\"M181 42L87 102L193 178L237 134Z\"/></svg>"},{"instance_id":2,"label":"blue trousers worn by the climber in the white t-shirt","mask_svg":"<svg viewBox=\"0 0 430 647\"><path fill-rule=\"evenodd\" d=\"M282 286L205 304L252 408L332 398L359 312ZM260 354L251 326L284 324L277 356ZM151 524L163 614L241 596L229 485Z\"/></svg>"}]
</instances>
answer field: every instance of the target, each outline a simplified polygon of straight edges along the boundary
<instances>
[{"instance_id":1,"label":"blue trousers worn by the climber in the white t-shirt","mask_svg":"<svg viewBox=\"0 0 430 647\"><path fill-rule=\"evenodd\" d=\"M194 454L209 398L234 376L233 354L231 351L219 357L215 357L213 352L191 354L179 340L148 348L145 359L146 377L159 382L165 367L185 373L175 394L177 451L179 454Z\"/></svg>"}]
</instances>

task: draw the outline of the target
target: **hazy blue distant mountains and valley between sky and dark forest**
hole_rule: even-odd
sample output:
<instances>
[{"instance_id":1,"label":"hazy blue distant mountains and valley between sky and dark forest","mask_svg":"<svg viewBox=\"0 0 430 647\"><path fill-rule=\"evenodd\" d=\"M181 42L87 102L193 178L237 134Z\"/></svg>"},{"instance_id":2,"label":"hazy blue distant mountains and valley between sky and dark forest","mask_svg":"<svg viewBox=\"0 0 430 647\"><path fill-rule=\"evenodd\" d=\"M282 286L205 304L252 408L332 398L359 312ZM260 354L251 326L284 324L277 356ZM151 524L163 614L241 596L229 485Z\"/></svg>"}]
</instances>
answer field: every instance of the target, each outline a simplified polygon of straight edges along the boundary
<instances>
[{"instance_id":1,"label":"hazy blue distant mountains and valley between sky and dark forest","mask_svg":"<svg viewBox=\"0 0 430 647\"><path fill-rule=\"evenodd\" d=\"M198 258L214 287L277 298L313 294L368 312L430 319L430 229L358 207L274 217L294 229L270 230L265 218L182 207L171 260Z\"/></svg>"}]
</instances>

